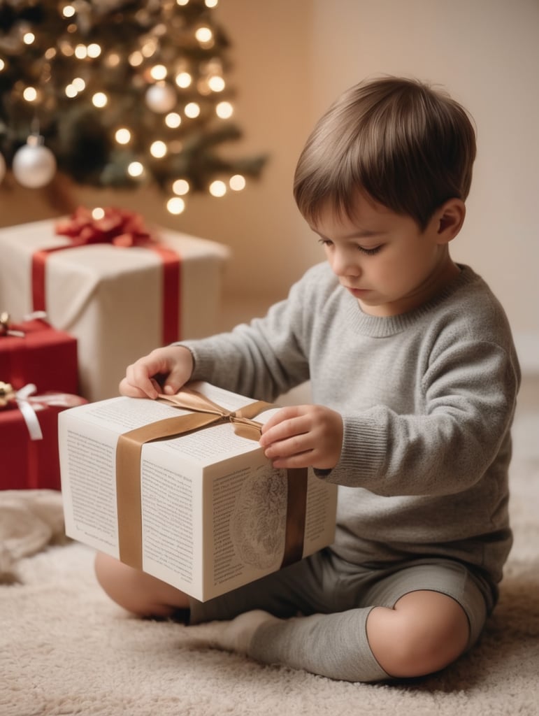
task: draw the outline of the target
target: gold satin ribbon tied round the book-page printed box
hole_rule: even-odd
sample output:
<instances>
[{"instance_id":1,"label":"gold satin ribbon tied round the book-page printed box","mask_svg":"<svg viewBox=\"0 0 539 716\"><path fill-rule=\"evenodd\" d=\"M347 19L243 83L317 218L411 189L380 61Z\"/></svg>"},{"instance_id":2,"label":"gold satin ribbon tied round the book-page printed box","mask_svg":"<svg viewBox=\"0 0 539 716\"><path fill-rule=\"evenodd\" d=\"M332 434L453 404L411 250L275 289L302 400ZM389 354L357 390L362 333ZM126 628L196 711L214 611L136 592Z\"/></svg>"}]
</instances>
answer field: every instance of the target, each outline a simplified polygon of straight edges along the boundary
<instances>
[{"instance_id":1,"label":"gold satin ribbon tied round the book-page printed box","mask_svg":"<svg viewBox=\"0 0 539 716\"><path fill-rule=\"evenodd\" d=\"M184 435L220 422L230 422L236 435L259 440L262 424L253 420L263 410L275 407L258 400L239 410L228 411L196 390L183 388L175 395L159 395L167 405L187 409L188 415L167 417L118 438L116 448L116 491L120 561L142 569L142 500L140 458L142 445L155 440ZM285 548L281 567L303 556L307 496L307 469L287 471L288 502L286 508Z\"/></svg>"}]
</instances>

